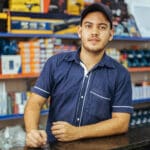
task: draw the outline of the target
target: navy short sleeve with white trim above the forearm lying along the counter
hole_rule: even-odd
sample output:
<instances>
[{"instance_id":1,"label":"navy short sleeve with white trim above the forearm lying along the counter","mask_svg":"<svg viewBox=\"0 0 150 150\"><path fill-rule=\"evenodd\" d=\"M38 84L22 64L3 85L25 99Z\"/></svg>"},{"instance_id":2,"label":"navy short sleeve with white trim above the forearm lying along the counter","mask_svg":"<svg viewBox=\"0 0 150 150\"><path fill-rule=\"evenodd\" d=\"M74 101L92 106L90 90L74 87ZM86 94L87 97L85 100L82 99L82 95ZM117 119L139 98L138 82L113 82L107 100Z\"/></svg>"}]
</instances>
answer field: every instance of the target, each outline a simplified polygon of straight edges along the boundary
<instances>
[{"instance_id":1,"label":"navy short sleeve with white trim above the forearm lying along the counter","mask_svg":"<svg viewBox=\"0 0 150 150\"><path fill-rule=\"evenodd\" d=\"M129 72L120 73L112 104L113 112L132 113L132 86Z\"/></svg>"}]
</instances>

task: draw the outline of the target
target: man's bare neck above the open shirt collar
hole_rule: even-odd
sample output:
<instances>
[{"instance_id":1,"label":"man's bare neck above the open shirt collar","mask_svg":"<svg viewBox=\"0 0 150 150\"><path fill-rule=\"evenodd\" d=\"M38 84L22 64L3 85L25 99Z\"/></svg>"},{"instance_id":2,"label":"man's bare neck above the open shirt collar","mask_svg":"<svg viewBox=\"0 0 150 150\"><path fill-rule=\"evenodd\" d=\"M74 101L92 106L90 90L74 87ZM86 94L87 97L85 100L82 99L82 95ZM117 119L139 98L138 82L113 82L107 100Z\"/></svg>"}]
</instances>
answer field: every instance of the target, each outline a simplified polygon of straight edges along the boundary
<instances>
[{"instance_id":1,"label":"man's bare neck above the open shirt collar","mask_svg":"<svg viewBox=\"0 0 150 150\"><path fill-rule=\"evenodd\" d=\"M100 62L103 55L104 50L96 53L96 52L89 52L82 48L80 52L80 59L86 66L87 70L91 70L98 62Z\"/></svg>"}]
</instances>

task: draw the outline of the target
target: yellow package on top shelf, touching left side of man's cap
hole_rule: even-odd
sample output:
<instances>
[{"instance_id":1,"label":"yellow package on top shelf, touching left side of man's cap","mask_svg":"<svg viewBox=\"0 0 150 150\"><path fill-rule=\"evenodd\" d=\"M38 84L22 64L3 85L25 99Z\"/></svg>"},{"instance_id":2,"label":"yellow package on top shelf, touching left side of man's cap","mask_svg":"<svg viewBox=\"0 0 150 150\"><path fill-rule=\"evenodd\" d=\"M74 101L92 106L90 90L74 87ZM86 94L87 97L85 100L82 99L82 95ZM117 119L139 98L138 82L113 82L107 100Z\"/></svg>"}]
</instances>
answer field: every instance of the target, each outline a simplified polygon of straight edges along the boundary
<instances>
[{"instance_id":1,"label":"yellow package on top shelf, touching left side of man's cap","mask_svg":"<svg viewBox=\"0 0 150 150\"><path fill-rule=\"evenodd\" d=\"M84 0L67 0L67 13L79 15L84 8Z\"/></svg>"}]
</instances>

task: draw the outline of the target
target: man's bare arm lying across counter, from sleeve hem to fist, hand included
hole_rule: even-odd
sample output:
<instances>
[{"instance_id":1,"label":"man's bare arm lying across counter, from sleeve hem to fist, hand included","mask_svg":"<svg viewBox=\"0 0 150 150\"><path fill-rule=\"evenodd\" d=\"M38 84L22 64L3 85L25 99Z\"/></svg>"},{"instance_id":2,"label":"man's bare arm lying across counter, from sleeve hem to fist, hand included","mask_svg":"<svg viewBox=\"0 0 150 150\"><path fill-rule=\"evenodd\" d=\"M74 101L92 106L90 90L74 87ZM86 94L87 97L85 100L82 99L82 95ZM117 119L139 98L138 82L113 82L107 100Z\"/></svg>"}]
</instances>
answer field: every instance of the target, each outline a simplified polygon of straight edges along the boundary
<instances>
[{"instance_id":1,"label":"man's bare arm lying across counter, from sleeve hem to fist, hand included","mask_svg":"<svg viewBox=\"0 0 150 150\"><path fill-rule=\"evenodd\" d=\"M74 126L65 121L53 122L52 134L58 141L73 141L82 138L110 136L124 133L128 130L130 114L113 113L112 119L92 125Z\"/></svg>"}]
</instances>

